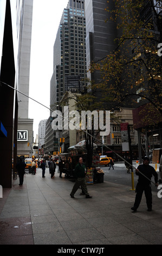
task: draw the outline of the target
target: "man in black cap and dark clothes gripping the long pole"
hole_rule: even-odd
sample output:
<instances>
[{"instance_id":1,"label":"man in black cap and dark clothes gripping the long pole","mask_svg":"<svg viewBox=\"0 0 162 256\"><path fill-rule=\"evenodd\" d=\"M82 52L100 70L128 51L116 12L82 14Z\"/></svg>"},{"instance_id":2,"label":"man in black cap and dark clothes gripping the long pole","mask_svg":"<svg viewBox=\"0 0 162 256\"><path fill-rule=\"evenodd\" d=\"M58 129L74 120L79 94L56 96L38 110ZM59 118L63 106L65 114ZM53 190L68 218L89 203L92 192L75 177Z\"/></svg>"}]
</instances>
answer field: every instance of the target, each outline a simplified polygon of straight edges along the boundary
<instances>
[{"instance_id":1,"label":"man in black cap and dark clothes gripping the long pole","mask_svg":"<svg viewBox=\"0 0 162 256\"><path fill-rule=\"evenodd\" d=\"M137 211L140 205L142 193L145 191L147 211L152 210L152 191L151 191L151 178L154 176L155 185L158 186L158 174L155 169L150 166L148 157L144 157L143 164L140 164L137 169L135 169L135 174L139 176L138 184L135 188L137 193L135 196L134 206L131 208L133 211ZM144 174L144 175L142 175Z\"/></svg>"}]
</instances>

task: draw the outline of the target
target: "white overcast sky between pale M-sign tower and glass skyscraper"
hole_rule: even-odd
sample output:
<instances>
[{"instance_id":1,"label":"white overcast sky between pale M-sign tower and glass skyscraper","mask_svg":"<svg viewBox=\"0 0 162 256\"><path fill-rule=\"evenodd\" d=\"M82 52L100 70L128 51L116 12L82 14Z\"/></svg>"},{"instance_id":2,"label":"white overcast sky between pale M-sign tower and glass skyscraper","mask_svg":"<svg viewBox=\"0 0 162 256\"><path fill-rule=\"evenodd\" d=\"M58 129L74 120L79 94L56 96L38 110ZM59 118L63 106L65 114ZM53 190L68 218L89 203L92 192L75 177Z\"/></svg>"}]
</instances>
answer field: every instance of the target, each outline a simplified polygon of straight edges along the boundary
<instances>
[{"instance_id":1,"label":"white overcast sky between pale M-sign tower and glass skyscraper","mask_svg":"<svg viewBox=\"0 0 162 256\"><path fill-rule=\"evenodd\" d=\"M50 105L50 79L53 75L53 46L57 29L68 0L34 0L31 38L29 96ZM29 99L29 118L34 119L34 141L38 124L49 118L49 110Z\"/></svg>"}]
</instances>

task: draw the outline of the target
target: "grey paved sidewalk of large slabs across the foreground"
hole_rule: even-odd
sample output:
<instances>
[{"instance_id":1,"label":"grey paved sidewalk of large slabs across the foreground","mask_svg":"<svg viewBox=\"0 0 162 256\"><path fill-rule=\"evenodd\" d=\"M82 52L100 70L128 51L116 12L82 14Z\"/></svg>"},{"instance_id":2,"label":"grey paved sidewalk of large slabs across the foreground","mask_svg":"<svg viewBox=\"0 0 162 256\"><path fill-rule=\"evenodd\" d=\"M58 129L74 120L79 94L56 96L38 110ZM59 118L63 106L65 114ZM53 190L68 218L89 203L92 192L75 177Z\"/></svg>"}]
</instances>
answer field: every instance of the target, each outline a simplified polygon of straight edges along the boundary
<instances>
[{"instance_id":1,"label":"grey paved sidewalk of large slabs across the foreground","mask_svg":"<svg viewBox=\"0 0 162 256\"><path fill-rule=\"evenodd\" d=\"M162 198L153 193L153 211L147 212L145 195L132 212L135 192L130 187L104 181L87 185L92 199L70 197L73 179L42 178L26 174L0 198L1 245L161 245ZM161 192L162 194L162 192ZM104 247L104 246L100 246ZM73 247L74 248L74 247Z\"/></svg>"}]
</instances>

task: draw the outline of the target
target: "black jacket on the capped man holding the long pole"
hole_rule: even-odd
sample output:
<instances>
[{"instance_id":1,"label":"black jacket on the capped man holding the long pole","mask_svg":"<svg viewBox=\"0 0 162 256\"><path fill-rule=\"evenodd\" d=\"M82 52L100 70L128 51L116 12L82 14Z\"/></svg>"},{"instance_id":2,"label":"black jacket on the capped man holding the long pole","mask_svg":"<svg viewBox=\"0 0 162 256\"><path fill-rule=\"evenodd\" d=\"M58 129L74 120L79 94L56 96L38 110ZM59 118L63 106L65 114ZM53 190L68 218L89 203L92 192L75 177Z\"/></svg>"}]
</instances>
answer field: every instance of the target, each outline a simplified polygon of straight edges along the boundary
<instances>
[{"instance_id":1,"label":"black jacket on the capped man holding the long pole","mask_svg":"<svg viewBox=\"0 0 162 256\"><path fill-rule=\"evenodd\" d=\"M152 166L140 164L137 169L139 169L140 173L135 172L135 174L139 176L138 182L140 184L150 184L151 181L149 180L151 180L152 175L154 176L155 183L158 183L158 174ZM149 180L141 173L144 174Z\"/></svg>"}]
</instances>

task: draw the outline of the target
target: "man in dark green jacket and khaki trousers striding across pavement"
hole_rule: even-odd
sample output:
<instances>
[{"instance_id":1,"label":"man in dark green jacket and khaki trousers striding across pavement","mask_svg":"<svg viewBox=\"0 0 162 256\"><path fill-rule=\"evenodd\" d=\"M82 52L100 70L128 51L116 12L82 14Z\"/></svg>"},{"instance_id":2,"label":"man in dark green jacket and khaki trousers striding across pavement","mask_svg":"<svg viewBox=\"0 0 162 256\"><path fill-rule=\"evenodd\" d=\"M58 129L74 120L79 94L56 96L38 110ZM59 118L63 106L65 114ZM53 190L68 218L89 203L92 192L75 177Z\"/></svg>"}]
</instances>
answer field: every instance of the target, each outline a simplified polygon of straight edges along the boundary
<instances>
[{"instance_id":1,"label":"man in dark green jacket and khaki trousers striding across pavement","mask_svg":"<svg viewBox=\"0 0 162 256\"><path fill-rule=\"evenodd\" d=\"M86 185L86 166L83 164L83 159L80 157L79 163L76 164L74 170L74 176L76 178L75 184L73 186L73 190L70 193L70 196L74 198L75 192L78 190L79 186L81 186L83 192L86 194L86 198L92 198L89 196Z\"/></svg>"}]
</instances>

